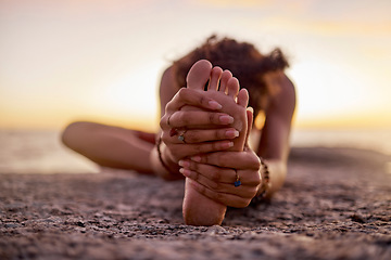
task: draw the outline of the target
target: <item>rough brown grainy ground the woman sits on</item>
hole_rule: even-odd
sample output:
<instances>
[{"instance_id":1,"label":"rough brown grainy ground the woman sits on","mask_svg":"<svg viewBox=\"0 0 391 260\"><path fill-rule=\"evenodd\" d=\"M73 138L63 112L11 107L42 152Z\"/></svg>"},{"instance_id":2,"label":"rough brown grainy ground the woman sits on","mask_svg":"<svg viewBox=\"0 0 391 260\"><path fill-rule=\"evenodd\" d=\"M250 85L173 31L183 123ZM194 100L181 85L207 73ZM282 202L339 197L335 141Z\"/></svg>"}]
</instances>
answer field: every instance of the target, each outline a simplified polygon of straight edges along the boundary
<instances>
[{"instance_id":1,"label":"rough brown grainy ground the woman sits on","mask_svg":"<svg viewBox=\"0 0 391 260\"><path fill-rule=\"evenodd\" d=\"M269 204L181 219L182 182L135 172L0 174L0 259L391 259L391 157L295 147Z\"/></svg>"}]
</instances>

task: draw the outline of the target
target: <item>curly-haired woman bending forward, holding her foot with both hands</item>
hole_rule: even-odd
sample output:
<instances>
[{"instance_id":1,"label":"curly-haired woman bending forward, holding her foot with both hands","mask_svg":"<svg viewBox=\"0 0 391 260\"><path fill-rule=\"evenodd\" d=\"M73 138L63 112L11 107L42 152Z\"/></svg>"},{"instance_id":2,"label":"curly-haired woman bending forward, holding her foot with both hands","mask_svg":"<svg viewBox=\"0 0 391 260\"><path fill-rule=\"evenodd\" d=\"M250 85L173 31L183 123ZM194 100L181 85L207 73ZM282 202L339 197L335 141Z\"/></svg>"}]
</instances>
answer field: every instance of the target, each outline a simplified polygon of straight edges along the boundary
<instances>
[{"instance_id":1,"label":"curly-haired woman bending forward, holding her foot with both hands","mask_svg":"<svg viewBox=\"0 0 391 260\"><path fill-rule=\"evenodd\" d=\"M220 224L227 206L269 198L283 184L295 106L287 66L278 49L265 56L212 36L164 72L157 134L79 121L63 142L101 166L185 177L186 223Z\"/></svg>"}]
</instances>

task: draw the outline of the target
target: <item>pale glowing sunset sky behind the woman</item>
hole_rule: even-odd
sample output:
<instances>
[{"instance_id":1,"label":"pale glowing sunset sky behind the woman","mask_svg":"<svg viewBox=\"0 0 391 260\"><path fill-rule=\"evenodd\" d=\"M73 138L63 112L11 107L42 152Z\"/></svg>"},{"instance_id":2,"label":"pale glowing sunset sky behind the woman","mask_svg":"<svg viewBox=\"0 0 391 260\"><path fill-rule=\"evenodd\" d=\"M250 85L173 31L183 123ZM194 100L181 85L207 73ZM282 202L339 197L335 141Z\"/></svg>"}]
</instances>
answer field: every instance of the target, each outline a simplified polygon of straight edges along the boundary
<instances>
[{"instance_id":1,"label":"pale glowing sunset sky behind the woman","mask_svg":"<svg viewBox=\"0 0 391 260\"><path fill-rule=\"evenodd\" d=\"M171 61L212 34L288 55L295 128L391 127L389 0L0 0L0 128L157 127Z\"/></svg>"}]
</instances>

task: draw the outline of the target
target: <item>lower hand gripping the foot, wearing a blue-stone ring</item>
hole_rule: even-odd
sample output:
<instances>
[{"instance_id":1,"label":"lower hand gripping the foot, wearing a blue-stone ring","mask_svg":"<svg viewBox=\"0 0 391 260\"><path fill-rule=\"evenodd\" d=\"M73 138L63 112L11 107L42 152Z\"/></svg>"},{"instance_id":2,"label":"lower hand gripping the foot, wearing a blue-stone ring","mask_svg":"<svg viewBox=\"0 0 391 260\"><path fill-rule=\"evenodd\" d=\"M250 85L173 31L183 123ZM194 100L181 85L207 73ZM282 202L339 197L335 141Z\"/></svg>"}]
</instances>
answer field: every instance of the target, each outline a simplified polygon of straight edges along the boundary
<instances>
[{"instance_id":1,"label":"lower hand gripping the foot, wearing a blue-stone ring","mask_svg":"<svg viewBox=\"0 0 391 260\"><path fill-rule=\"evenodd\" d=\"M179 166L199 193L229 207L249 206L262 183L260 158L248 147L243 152L197 155L180 160Z\"/></svg>"}]
</instances>

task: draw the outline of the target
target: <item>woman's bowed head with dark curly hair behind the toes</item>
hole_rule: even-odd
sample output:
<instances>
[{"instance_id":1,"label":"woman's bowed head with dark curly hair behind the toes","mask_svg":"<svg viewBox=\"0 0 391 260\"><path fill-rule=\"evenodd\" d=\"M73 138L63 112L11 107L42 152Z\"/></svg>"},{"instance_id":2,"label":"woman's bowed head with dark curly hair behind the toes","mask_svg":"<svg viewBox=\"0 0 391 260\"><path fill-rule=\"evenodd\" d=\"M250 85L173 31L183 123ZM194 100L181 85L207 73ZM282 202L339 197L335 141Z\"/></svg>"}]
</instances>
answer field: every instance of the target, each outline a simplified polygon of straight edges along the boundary
<instances>
[{"instance_id":1,"label":"woman's bowed head with dark curly hair behind the toes","mask_svg":"<svg viewBox=\"0 0 391 260\"><path fill-rule=\"evenodd\" d=\"M255 116L261 109L266 109L268 96L277 92L270 89L275 87L266 84L265 75L283 70L288 66L279 49L263 55L251 43L212 36L201 47L174 62L178 86L186 86L186 75L190 67L203 58L213 66L229 69L239 79L240 88L245 88L250 93L249 105L254 108Z\"/></svg>"}]
</instances>

